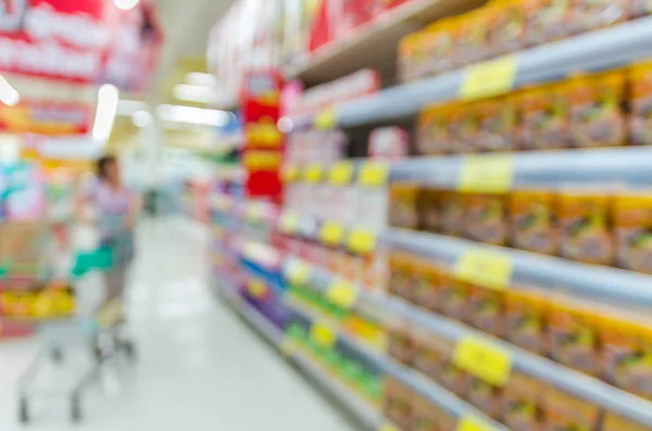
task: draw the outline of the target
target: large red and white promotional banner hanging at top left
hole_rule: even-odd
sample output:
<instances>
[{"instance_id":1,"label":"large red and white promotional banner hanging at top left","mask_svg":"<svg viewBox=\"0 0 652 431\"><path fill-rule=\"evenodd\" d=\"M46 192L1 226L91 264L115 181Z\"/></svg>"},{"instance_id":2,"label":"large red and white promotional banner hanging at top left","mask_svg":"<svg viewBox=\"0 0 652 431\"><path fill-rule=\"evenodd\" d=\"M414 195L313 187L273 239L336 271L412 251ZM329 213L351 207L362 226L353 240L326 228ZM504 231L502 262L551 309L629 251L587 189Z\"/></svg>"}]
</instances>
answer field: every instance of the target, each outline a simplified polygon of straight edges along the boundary
<instances>
[{"instance_id":1,"label":"large red and white promotional banner hanging at top left","mask_svg":"<svg viewBox=\"0 0 652 431\"><path fill-rule=\"evenodd\" d=\"M106 0L0 0L0 72L135 89L161 39L151 18L147 2L126 12Z\"/></svg>"}]
</instances>

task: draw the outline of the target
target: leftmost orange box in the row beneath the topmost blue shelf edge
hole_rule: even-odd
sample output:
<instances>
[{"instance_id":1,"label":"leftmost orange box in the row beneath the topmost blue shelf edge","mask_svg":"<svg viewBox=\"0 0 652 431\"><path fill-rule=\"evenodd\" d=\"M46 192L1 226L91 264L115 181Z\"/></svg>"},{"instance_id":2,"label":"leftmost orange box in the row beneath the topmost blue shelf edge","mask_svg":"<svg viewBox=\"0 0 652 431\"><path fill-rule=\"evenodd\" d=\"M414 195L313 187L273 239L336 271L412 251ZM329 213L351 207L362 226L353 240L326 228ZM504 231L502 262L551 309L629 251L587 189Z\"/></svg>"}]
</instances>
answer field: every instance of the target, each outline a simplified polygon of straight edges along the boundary
<instances>
[{"instance_id":1,"label":"leftmost orange box in the row beneath the topmost blue shelf edge","mask_svg":"<svg viewBox=\"0 0 652 431\"><path fill-rule=\"evenodd\" d=\"M449 149L449 118L447 106L437 105L426 109L417 121L416 147L419 154L446 154Z\"/></svg>"}]
</instances>

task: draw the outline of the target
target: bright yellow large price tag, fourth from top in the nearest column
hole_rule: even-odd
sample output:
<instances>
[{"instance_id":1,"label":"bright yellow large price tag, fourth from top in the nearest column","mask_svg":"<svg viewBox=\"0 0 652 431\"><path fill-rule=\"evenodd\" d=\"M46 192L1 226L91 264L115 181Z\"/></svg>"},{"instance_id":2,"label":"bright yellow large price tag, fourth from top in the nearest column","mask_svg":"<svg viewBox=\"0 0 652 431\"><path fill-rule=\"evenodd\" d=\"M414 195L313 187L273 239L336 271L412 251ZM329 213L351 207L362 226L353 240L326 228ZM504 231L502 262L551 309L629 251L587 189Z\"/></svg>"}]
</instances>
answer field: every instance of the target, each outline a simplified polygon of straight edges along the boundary
<instances>
[{"instance_id":1,"label":"bright yellow large price tag, fourth from top in the nearest column","mask_svg":"<svg viewBox=\"0 0 652 431\"><path fill-rule=\"evenodd\" d=\"M467 335L457 343L454 364L494 386L504 386L512 373L512 355L505 348Z\"/></svg>"}]
</instances>

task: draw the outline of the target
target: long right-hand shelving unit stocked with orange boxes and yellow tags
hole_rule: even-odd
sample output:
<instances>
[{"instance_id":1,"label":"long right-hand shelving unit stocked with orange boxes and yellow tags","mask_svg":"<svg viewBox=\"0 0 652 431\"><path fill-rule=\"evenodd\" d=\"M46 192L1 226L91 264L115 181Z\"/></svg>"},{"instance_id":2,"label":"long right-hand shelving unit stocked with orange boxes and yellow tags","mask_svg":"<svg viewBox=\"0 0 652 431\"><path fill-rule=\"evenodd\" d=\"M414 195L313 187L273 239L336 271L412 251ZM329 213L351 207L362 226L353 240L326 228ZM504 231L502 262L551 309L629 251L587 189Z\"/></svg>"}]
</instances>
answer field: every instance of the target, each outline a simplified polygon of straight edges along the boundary
<instances>
[{"instance_id":1,"label":"long right-hand shelving unit stocked with orange boxes and yellow tags","mask_svg":"<svg viewBox=\"0 0 652 431\"><path fill-rule=\"evenodd\" d=\"M494 0L306 90L242 314L378 430L652 430L650 12Z\"/></svg>"}]
</instances>

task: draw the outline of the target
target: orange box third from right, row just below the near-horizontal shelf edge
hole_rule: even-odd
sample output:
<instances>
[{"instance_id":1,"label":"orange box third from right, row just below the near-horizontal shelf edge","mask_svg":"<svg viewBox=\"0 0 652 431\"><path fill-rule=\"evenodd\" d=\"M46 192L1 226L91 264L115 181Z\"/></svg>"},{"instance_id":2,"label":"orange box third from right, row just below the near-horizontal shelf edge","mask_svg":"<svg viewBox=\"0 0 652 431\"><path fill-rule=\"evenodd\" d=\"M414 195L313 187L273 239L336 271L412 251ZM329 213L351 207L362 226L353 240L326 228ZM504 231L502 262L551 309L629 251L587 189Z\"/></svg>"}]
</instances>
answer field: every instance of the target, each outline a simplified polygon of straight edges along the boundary
<instances>
[{"instance_id":1,"label":"orange box third from right, row just below the near-horizontal shelf edge","mask_svg":"<svg viewBox=\"0 0 652 431\"><path fill-rule=\"evenodd\" d=\"M560 236L551 190L515 190L507 197L510 239L516 249L557 254Z\"/></svg>"}]
</instances>

